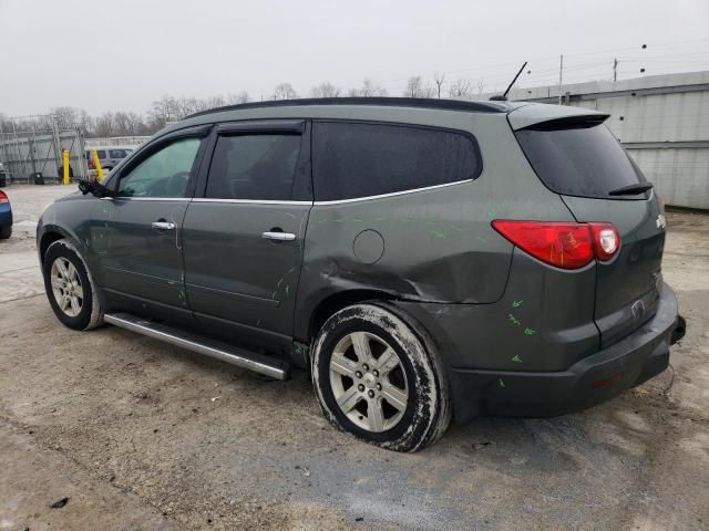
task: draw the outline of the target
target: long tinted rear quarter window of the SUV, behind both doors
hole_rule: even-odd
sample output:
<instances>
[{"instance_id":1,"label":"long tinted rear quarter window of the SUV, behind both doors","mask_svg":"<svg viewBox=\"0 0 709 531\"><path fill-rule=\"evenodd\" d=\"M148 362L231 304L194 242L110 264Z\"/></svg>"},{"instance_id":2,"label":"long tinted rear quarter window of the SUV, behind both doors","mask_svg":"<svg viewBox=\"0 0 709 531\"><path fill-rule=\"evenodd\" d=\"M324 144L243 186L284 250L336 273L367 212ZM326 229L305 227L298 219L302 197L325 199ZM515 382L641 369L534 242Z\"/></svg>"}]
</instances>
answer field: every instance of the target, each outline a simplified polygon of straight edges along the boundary
<instances>
[{"instance_id":1,"label":"long tinted rear quarter window of the SUV, behind both doors","mask_svg":"<svg viewBox=\"0 0 709 531\"><path fill-rule=\"evenodd\" d=\"M474 179L482 169L474 140L412 126L314 124L315 198L379 196Z\"/></svg>"}]
</instances>

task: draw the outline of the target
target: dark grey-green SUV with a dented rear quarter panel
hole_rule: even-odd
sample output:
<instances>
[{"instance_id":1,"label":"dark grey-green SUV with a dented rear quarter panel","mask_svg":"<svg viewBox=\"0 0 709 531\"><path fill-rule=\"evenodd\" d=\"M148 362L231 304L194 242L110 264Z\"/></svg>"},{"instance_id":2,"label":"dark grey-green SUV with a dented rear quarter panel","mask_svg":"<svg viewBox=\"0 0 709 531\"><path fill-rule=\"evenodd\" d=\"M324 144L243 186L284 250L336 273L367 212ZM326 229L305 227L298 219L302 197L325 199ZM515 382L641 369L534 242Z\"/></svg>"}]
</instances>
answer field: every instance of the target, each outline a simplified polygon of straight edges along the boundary
<instances>
[{"instance_id":1,"label":"dark grey-green SUV with a dented rear quarter panel","mask_svg":"<svg viewBox=\"0 0 709 531\"><path fill-rule=\"evenodd\" d=\"M451 417L548 416L662 372L682 335L662 207L603 122L409 98L172 125L38 227L49 302L287 378L395 450Z\"/></svg>"}]
</instances>

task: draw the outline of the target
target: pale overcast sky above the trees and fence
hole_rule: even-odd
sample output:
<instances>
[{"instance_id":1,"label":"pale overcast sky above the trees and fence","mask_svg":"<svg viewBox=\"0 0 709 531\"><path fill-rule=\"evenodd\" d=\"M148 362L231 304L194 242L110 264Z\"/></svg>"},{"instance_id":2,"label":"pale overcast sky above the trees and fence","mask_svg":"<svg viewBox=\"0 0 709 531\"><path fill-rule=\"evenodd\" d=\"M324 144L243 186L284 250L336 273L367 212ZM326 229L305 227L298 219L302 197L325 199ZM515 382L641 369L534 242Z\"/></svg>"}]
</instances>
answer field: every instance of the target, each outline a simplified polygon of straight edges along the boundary
<instances>
[{"instance_id":1,"label":"pale overcast sky above the trees and fence","mask_svg":"<svg viewBox=\"0 0 709 531\"><path fill-rule=\"evenodd\" d=\"M620 79L709 70L709 1L0 0L0 113L142 113L163 94L364 77L401 95L434 71L489 91L524 60L534 86L556 82L561 53L569 82L609 79L616 56Z\"/></svg>"}]
</instances>

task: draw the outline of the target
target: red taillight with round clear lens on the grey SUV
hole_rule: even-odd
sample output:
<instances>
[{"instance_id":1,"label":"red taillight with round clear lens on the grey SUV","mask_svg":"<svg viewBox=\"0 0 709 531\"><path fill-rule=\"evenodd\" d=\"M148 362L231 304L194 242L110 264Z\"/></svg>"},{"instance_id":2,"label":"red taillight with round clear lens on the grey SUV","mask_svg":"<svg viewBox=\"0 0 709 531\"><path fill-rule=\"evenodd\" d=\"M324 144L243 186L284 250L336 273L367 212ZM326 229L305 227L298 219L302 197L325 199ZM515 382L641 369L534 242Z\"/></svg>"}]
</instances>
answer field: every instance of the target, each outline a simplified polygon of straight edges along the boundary
<instances>
[{"instance_id":1,"label":"red taillight with round clear lens on the grey SUV","mask_svg":"<svg viewBox=\"0 0 709 531\"><path fill-rule=\"evenodd\" d=\"M612 223L495 219L492 226L523 251L562 269L583 268L594 258L610 260L620 248Z\"/></svg>"}]
</instances>

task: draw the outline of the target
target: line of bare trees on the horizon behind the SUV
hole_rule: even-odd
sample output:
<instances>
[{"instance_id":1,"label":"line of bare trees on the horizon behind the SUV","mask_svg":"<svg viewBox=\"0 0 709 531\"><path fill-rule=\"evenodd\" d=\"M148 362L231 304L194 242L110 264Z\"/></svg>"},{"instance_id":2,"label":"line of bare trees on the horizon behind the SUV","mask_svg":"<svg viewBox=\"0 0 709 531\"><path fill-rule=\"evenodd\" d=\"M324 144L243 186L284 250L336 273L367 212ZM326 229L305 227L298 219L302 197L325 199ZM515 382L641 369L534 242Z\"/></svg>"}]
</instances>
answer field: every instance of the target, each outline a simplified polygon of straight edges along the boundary
<instances>
[{"instance_id":1,"label":"line of bare trees on the horizon behind the SUV","mask_svg":"<svg viewBox=\"0 0 709 531\"><path fill-rule=\"evenodd\" d=\"M407 80L405 87L401 95L408 97L465 97L473 94L473 83L470 80L459 79L448 84L448 91L443 90L445 84L445 74L435 72L431 81L424 80L421 75L412 75ZM483 92L482 81L475 87L477 94ZM388 91L372 81L364 79L362 84L356 88L345 90L333 85L328 81L310 88L309 92L301 95L296 92L290 83L279 83L274 87L271 94L267 97L260 96L259 100L295 100L298 97L377 97L387 96ZM106 112L97 116L90 115L86 111L76 107L61 106L52 107L50 115L59 121L61 127L71 127L78 125L89 138L102 138L112 136L142 136L152 135L165 125L183 119L194 113L207 111L210 108L223 107L225 105L236 105L251 102L250 95L246 91L218 95L205 98L198 97L176 97L169 94L163 95L160 100L154 101L146 113L138 114L134 112ZM32 127L44 128L50 119L48 116L40 116L39 122L18 123L20 126L30 131ZM0 113L0 122L3 131L7 133L12 131L12 123L4 118ZM39 124L39 125L38 125Z\"/></svg>"}]
</instances>

